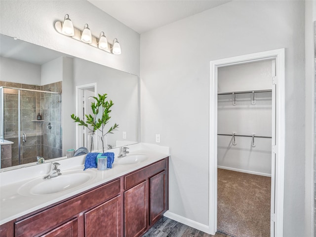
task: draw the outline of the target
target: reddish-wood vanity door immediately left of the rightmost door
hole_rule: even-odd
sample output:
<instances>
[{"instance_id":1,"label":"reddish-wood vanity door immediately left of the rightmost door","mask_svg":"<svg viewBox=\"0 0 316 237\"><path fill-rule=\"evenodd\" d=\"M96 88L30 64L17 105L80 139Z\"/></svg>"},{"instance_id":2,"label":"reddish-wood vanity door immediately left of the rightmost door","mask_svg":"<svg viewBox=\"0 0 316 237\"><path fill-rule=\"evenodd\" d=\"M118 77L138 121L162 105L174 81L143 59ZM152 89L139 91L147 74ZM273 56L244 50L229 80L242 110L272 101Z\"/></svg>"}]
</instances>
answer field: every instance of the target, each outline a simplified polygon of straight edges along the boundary
<instances>
[{"instance_id":1,"label":"reddish-wood vanity door immediately left of the rightmost door","mask_svg":"<svg viewBox=\"0 0 316 237\"><path fill-rule=\"evenodd\" d=\"M124 192L125 237L138 237L148 227L148 181Z\"/></svg>"}]
</instances>

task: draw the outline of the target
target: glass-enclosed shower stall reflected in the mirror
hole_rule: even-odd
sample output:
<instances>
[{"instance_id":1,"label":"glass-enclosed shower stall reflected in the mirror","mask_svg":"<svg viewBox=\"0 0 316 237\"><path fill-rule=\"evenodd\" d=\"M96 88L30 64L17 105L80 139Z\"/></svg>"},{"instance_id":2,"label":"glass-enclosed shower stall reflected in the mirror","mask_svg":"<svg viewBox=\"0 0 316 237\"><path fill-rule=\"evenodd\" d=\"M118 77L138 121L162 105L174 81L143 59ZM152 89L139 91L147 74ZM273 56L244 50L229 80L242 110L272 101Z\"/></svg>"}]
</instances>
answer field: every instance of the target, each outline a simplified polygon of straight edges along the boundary
<instances>
[{"instance_id":1,"label":"glass-enclosed shower stall reflected in the mirror","mask_svg":"<svg viewBox=\"0 0 316 237\"><path fill-rule=\"evenodd\" d=\"M6 152L1 146L0 168L34 162L38 156L62 157L61 98L59 92L0 87L0 144L10 145Z\"/></svg>"}]
</instances>

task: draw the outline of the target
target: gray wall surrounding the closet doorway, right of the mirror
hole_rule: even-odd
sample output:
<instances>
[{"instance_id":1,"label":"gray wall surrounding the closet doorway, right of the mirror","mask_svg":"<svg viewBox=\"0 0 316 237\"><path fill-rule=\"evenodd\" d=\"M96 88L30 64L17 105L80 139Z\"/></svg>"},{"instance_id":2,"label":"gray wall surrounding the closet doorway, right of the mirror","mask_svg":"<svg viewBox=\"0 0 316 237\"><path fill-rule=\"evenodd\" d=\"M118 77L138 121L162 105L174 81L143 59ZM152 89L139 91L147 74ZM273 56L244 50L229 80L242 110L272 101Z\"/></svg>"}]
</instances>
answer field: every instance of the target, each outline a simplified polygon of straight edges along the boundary
<instances>
[{"instance_id":1,"label":"gray wall surrounding the closet doorway, right of the mirror","mask_svg":"<svg viewBox=\"0 0 316 237\"><path fill-rule=\"evenodd\" d=\"M208 225L209 62L285 48L284 236L304 233L304 10L232 1L141 35L141 140L171 147L171 212Z\"/></svg>"}]
</instances>

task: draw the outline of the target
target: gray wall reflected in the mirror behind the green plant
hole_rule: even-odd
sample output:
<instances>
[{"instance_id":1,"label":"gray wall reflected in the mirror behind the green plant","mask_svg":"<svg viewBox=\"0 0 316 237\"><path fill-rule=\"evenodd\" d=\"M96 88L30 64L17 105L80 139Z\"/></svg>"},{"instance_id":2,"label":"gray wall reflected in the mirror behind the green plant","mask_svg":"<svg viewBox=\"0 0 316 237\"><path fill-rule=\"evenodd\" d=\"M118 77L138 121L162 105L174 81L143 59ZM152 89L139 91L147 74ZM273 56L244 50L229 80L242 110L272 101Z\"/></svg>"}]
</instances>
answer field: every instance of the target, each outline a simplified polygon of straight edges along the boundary
<instances>
[{"instance_id":1,"label":"gray wall reflected in the mirror behind the green plant","mask_svg":"<svg viewBox=\"0 0 316 237\"><path fill-rule=\"evenodd\" d=\"M126 132L125 141L138 141L137 119L138 119L138 77L121 72L100 64L91 63L86 60L75 58L74 87L88 83L97 84L97 93L107 93L107 100L112 100L111 119L104 128L107 132L114 123L118 124L117 131L107 135L107 144L116 146L116 141L122 141L122 132ZM75 112L76 114L76 112ZM72 126L76 126L73 122ZM101 132L97 131L101 136ZM100 144L100 149L101 149Z\"/></svg>"}]
</instances>

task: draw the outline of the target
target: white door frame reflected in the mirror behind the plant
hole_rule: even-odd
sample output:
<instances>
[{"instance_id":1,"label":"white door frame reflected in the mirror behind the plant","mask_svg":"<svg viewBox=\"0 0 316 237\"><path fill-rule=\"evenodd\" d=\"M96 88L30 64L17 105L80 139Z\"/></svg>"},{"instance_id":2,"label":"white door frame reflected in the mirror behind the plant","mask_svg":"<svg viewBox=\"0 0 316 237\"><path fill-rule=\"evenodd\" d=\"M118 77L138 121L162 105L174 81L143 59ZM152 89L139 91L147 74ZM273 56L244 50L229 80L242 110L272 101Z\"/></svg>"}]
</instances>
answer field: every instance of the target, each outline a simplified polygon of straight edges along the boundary
<instances>
[{"instance_id":1,"label":"white door frame reflected in the mirror behind the plant","mask_svg":"<svg viewBox=\"0 0 316 237\"><path fill-rule=\"evenodd\" d=\"M81 110L80 110L81 91L83 89L91 88L91 87L94 87L94 96L96 97L97 96L97 83L89 83L89 84L76 86L76 116L81 118L81 119L84 119L84 118L82 118ZM79 134L81 134L81 129L82 129L81 126L76 126L76 147L77 147L76 149L78 149L80 147L80 144L82 143L82 142L80 142L81 136L79 136Z\"/></svg>"}]
</instances>

